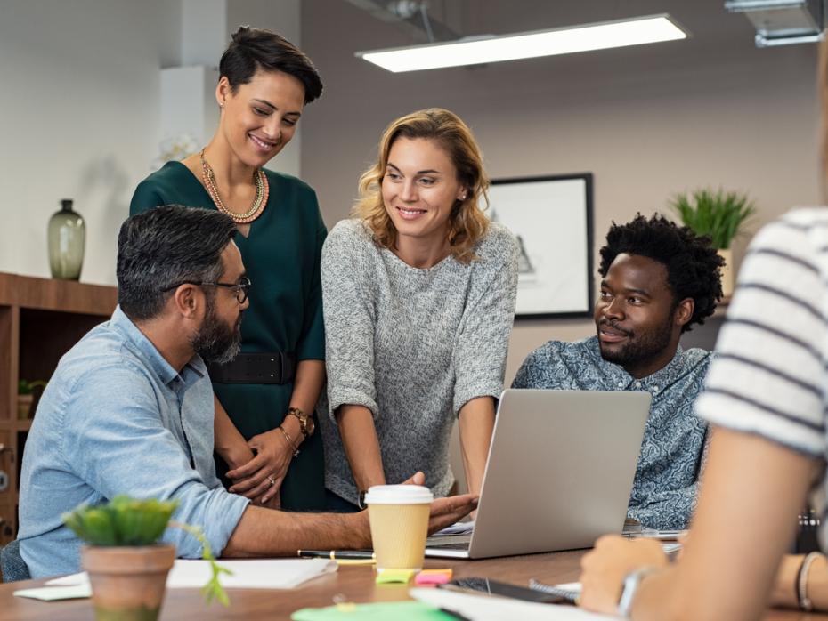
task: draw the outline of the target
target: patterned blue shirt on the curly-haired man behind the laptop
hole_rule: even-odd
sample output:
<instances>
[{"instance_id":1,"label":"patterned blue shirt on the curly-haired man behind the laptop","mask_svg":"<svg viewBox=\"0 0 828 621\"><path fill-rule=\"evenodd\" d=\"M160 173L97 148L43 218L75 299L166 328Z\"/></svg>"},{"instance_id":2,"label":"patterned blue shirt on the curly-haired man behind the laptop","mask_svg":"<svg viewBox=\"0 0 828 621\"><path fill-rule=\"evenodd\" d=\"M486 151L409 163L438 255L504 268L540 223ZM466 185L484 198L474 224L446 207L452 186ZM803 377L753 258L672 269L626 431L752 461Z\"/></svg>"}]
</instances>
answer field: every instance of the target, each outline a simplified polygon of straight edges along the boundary
<instances>
[{"instance_id":1,"label":"patterned blue shirt on the curly-haired man behind the laptop","mask_svg":"<svg viewBox=\"0 0 828 621\"><path fill-rule=\"evenodd\" d=\"M649 391L650 416L627 512L650 528L687 528L707 432L707 423L694 415L694 402L711 359L710 351L678 347L666 367L636 379L601 357L597 336L550 341L524 360L512 388Z\"/></svg>"}]
</instances>

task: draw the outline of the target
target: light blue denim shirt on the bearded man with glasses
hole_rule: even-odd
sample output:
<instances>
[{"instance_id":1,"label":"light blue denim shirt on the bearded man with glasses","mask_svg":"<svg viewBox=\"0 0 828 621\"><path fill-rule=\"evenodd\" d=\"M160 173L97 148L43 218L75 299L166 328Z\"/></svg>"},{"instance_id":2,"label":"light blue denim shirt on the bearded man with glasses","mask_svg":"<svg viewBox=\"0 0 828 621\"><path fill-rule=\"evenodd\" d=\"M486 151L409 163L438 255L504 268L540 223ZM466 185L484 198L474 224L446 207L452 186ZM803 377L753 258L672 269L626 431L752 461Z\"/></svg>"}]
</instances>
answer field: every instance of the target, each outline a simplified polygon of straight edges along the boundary
<instances>
[{"instance_id":1,"label":"light blue denim shirt on the bearded man with glasses","mask_svg":"<svg viewBox=\"0 0 828 621\"><path fill-rule=\"evenodd\" d=\"M81 542L61 513L118 494L176 498L174 519L204 529L218 554L248 500L213 463L213 390L194 357L179 374L116 309L63 356L37 407L20 475L20 553L32 577L79 571ZM178 556L201 545L177 528Z\"/></svg>"}]
</instances>

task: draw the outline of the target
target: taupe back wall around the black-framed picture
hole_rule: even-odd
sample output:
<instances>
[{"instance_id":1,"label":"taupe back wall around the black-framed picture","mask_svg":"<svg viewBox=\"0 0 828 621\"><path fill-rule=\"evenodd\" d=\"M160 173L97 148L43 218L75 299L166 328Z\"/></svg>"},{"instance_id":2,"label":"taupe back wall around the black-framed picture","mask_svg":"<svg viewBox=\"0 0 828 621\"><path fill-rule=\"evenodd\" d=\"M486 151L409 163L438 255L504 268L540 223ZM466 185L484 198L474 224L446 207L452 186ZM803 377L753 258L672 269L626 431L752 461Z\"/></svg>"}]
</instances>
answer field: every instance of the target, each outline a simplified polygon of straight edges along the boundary
<instances>
[{"instance_id":1,"label":"taupe back wall around the black-framed picture","mask_svg":"<svg viewBox=\"0 0 828 621\"><path fill-rule=\"evenodd\" d=\"M469 5L476 10L450 24L465 35L667 11L693 36L391 74L353 52L408 44L406 35L352 4L304 0L304 51L326 89L303 120L302 171L329 227L346 216L385 125L429 106L453 109L472 126L493 178L594 173L596 252L613 220L663 210L675 192L699 186L750 192L760 210L754 230L793 205L817 202L815 46L757 50L748 20L727 14L720 0ZM743 248L735 246L737 265ZM507 381L540 343L593 333L589 319L519 320Z\"/></svg>"}]
</instances>

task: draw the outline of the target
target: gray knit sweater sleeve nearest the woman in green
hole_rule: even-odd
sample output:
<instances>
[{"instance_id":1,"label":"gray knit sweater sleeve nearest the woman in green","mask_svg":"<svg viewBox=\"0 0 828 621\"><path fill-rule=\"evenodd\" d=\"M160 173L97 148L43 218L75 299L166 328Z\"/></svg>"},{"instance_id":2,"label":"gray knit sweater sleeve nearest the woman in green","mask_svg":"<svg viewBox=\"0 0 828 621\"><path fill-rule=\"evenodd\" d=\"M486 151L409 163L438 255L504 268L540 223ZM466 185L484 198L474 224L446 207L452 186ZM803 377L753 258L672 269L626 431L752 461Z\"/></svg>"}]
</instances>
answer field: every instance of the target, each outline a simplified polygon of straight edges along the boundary
<instances>
[{"instance_id":1,"label":"gray knit sweater sleeve nearest the woman in green","mask_svg":"<svg viewBox=\"0 0 828 621\"><path fill-rule=\"evenodd\" d=\"M368 407L379 415L374 383L374 305L367 281L371 242L353 222L340 222L322 247L322 308L328 367L330 420L345 404ZM363 248L361 248L363 246Z\"/></svg>"}]
</instances>

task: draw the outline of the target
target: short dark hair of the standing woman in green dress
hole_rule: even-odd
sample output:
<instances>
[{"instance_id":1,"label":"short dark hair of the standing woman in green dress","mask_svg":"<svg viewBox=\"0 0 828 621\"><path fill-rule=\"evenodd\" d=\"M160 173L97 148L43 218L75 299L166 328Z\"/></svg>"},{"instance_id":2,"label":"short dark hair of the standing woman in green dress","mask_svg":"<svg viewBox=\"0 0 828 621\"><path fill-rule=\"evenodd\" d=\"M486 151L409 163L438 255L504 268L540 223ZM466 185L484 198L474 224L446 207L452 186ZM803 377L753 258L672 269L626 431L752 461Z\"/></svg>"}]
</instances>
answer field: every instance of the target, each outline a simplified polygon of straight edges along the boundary
<instances>
[{"instance_id":1,"label":"short dark hair of the standing woman in green dress","mask_svg":"<svg viewBox=\"0 0 828 621\"><path fill-rule=\"evenodd\" d=\"M319 99L322 80L313 62L284 36L264 28L239 26L218 63L220 77L226 77L232 93L246 85L256 71L281 71L304 85L304 103Z\"/></svg>"}]
</instances>

